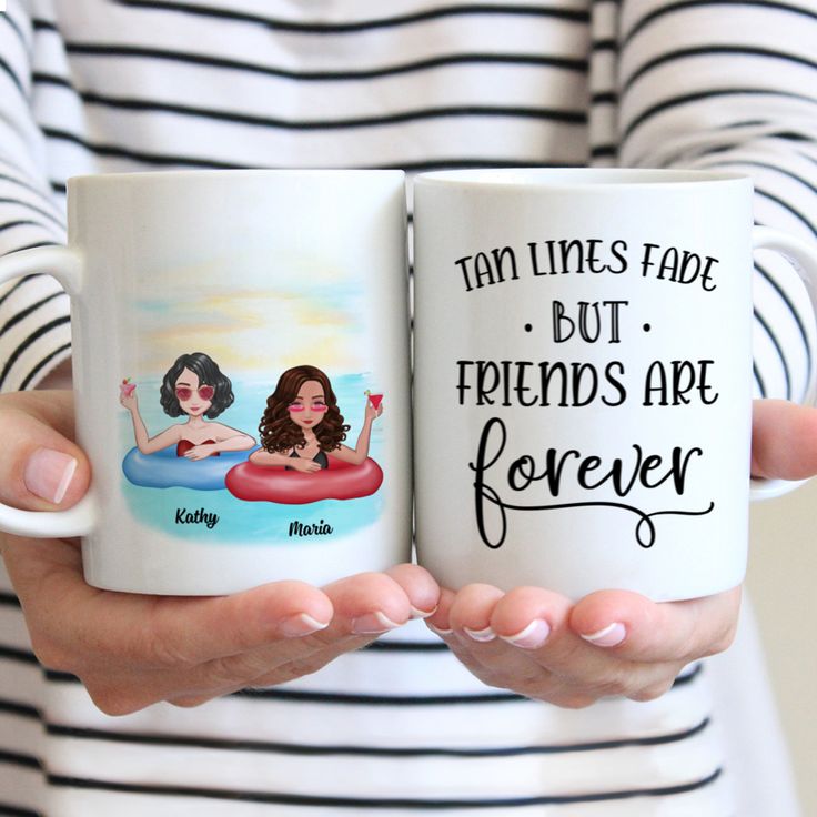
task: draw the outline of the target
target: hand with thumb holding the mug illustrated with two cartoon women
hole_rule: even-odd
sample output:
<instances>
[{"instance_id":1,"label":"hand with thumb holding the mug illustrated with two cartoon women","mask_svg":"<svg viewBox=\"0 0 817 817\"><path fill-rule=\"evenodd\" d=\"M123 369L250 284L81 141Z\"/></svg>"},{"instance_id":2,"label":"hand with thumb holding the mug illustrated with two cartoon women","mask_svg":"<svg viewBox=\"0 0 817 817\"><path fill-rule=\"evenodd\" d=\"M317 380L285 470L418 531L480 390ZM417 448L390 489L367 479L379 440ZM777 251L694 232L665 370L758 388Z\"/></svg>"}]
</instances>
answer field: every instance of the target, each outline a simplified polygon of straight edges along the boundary
<instances>
[{"instance_id":1,"label":"hand with thumb holding the mug illustrated with two cartoon women","mask_svg":"<svg viewBox=\"0 0 817 817\"><path fill-rule=\"evenodd\" d=\"M77 503L90 466L72 430L71 392L0 396L0 500L36 511ZM176 597L90 587L78 539L2 534L0 553L38 658L79 676L110 715L160 700L195 706L314 673L430 615L440 596L431 575L407 564L322 589L290 581L231 596Z\"/></svg>"}]
</instances>

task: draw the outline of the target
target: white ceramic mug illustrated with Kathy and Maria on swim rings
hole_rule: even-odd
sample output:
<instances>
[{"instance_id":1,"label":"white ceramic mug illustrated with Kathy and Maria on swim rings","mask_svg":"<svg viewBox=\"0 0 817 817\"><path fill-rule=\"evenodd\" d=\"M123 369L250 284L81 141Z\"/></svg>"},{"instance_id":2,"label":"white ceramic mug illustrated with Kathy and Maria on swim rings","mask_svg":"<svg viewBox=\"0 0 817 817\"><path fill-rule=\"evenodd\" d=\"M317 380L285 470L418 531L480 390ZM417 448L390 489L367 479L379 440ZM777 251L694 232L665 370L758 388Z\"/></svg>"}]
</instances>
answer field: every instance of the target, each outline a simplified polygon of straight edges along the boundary
<instances>
[{"instance_id":1,"label":"white ceramic mug illustrated with Kathy and Maria on swim rings","mask_svg":"<svg viewBox=\"0 0 817 817\"><path fill-rule=\"evenodd\" d=\"M401 171L193 171L69 181L69 245L0 260L72 307L88 497L0 506L83 536L87 581L221 594L411 555ZM261 446L261 447L260 447Z\"/></svg>"}]
</instances>

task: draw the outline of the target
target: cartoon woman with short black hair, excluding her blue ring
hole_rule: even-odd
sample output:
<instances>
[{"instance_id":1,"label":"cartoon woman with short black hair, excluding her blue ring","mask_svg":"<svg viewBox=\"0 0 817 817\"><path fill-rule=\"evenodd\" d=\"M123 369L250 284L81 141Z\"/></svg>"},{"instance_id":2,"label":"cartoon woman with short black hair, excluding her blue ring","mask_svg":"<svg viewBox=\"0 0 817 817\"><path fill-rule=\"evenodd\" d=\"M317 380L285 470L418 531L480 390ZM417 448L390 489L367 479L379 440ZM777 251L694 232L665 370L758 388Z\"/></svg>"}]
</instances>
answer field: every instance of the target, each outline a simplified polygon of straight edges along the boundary
<instances>
[{"instance_id":1,"label":"cartoon woman with short black hair, excluding her blue ring","mask_svg":"<svg viewBox=\"0 0 817 817\"><path fill-rule=\"evenodd\" d=\"M139 413L135 387L120 389L119 395L119 402L131 413L137 447L142 454L175 445L176 455L188 460L219 456L222 451L246 451L255 445L249 434L209 422L231 406L234 399L230 379L203 352L181 355L162 380L159 400L164 413L171 417L186 415L185 423L175 423L150 437Z\"/></svg>"}]
</instances>

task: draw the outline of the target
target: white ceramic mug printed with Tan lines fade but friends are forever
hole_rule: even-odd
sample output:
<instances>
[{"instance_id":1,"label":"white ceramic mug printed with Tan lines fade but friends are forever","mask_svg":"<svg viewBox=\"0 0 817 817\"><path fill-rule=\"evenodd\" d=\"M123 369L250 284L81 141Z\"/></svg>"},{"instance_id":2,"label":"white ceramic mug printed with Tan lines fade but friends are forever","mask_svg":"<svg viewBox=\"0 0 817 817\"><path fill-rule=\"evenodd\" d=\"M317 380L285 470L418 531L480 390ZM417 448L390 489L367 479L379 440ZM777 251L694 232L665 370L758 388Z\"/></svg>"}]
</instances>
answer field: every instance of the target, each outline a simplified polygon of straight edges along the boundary
<instances>
[{"instance_id":1,"label":"white ceramic mug printed with Tan lines fade but friends are forever","mask_svg":"<svg viewBox=\"0 0 817 817\"><path fill-rule=\"evenodd\" d=\"M438 582L742 582L753 248L791 256L817 310L817 253L753 230L752 198L683 171L416 179L416 539Z\"/></svg>"}]
</instances>

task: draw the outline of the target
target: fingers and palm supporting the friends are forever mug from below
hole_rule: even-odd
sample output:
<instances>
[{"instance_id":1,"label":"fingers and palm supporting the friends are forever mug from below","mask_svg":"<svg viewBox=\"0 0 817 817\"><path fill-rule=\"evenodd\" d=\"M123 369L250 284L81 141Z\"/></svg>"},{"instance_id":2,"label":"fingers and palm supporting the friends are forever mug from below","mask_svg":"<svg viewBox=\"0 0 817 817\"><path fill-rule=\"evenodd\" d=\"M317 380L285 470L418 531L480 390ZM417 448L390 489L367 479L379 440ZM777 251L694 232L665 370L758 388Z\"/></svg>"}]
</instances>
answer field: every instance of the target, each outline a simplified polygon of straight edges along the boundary
<instances>
[{"instance_id":1,"label":"fingers and palm supporting the friends are forever mug from below","mask_svg":"<svg viewBox=\"0 0 817 817\"><path fill-rule=\"evenodd\" d=\"M739 587L664 604L601 591L574 605L538 587L472 584L444 589L426 623L488 686L579 708L663 695L684 666L729 646L739 606Z\"/></svg>"}]
</instances>

